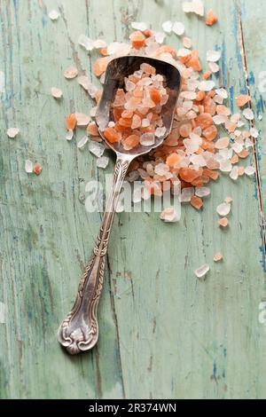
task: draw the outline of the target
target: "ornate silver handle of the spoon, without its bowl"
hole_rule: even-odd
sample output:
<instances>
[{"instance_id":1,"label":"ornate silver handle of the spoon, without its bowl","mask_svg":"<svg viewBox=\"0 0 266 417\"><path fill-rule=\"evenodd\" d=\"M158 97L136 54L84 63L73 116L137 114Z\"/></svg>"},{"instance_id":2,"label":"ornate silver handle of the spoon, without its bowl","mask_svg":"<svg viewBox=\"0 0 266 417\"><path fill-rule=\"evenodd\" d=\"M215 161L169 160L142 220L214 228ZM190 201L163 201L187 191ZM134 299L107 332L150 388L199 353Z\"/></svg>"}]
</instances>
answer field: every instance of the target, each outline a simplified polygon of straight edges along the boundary
<instances>
[{"instance_id":1,"label":"ornate silver handle of the spoon, without its bowl","mask_svg":"<svg viewBox=\"0 0 266 417\"><path fill-rule=\"evenodd\" d=\"M113 187L95 247L82 275L74 307L59 327L59 343L72 355L90 350L98 341L97 308L103 288L108 240L121 185L132 159L130 155L118 155L114 168Z\"/></svg>"}]
</instances>

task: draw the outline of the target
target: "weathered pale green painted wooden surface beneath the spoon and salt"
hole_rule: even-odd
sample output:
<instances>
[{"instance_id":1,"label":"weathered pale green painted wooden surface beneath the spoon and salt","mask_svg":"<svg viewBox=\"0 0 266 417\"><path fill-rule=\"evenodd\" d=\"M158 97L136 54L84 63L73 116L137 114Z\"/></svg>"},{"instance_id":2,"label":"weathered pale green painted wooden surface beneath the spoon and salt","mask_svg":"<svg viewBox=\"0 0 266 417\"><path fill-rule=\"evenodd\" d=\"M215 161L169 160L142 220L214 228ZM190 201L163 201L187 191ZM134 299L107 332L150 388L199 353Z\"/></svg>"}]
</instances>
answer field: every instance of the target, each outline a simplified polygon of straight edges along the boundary
<instances>
[{"instance_id":1,"label":"weathered pale green painted wooden surface beneath the spoon and salt","mask_svg":"<svg viewBox=\"0 0 266 417\"><path fill-rule=\"evenodd\" d=\"M62 77L72 63L90 74L95 56L78 48L78 36L111 42L128 38L130 20L151 21L155 29L182 20L201 57L222 49L221 84L234 95L249 86L256 116L263 115L265 2L205 1L219 15L213 28L185 16L181 3L0 0L2 398L266 397L266 327L258 320L266 296L263 119L255 121L259 183L222 177L203 212L185 207L179 224L161 224L156 213L117 216L98 346L72 358L56 341L100 223L98 214L86 213L82 193L103 173L75 141L63 140L65 114L92 106ZM47 13L56 6L61 17L52 23ZM168 42L177 45L176 35ZM51 98L53 85L64 91L61 103ZM15 140L5 134L12 125L21 130ZM27 176L27 158L43 164L40 177ZM231 227L220 232L215 208L227 195ZM218 250L224 262L214 264ZM211 271L200 282L193 271L205 261Z\"/></svg>"}]
</instances>

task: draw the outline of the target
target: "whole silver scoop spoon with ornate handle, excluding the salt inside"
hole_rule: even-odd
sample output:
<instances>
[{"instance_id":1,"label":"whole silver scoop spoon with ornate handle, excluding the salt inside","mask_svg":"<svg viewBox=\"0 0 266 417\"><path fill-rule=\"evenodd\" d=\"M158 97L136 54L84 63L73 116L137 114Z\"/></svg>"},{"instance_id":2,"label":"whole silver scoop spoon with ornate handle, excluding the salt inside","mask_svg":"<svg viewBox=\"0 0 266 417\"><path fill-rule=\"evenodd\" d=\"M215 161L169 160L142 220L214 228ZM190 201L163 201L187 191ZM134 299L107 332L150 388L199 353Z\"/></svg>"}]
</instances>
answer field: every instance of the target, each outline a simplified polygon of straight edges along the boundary
<instances>
[{"instance_id":1,"label":"whole silver scoop spoon with ornate handle, excluding the salt inside","mask_svg":"<svg viewBox=\"0 0 266 417\"><path fill-rule=\"evenodd\" d=\"M113 120L111 105L116 90L123 88L124 78L137 71L143 63L152 65L156 68L156 74L165 77L169 98L167 104L162 106L161 116L163 126L167 130L162 137L155 138L153 146L137 146L130 151L125 151L120 144L110 144L106 141L103 131L108 126L108 122ZM112 191L106 203L106 212L95 247L82 275L74 307L59 327L59 343L72 355L90 350L98 341L98 301L103 288L108 240L121 185L127 174L129 163L138 156L149 153L152 149L160 146L163 140L168 137L174 119L180 84L181 76L176 67L159 59L138 56L121 57L113 59L106 69L106 83L98 106L96 122L100 136L106 141L106 145L116 153L117 160L114 167Z\"/></svg>"}]
</instances>

